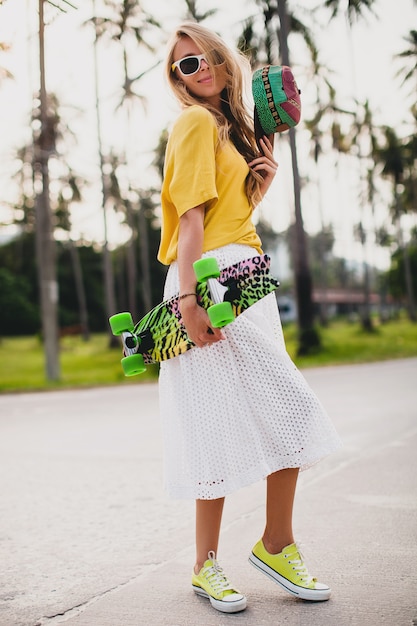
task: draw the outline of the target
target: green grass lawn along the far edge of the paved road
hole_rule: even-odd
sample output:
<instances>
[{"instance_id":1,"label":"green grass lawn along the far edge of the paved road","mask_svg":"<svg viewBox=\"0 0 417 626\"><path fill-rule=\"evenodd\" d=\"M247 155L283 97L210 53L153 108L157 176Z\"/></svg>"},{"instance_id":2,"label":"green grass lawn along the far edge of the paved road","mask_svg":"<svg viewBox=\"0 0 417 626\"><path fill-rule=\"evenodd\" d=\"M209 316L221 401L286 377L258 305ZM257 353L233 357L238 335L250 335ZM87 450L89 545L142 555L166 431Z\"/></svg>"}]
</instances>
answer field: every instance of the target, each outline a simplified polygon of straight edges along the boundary
<instances>
[{"instance_id":1,"label":"green grass lawn along the far edge of the paved road","mask_svg":"<svg viewBox=\"0 0 417 626\"><path fill-rule=\"evenodd\" d=\"M323 349L308 357L297 357L297 329L284 328L287 349L298 367L364 363L417 356L417 324L406 319L390 321L365 333L358 324L334 321L320 330ZM45 380L42 345L37 337L0 340L0 392L138 384L156 380L158 368L125 378L120 366L121 350L108 347L107 335L93 335L89 342L80 337L61 339L61 380Z\"/></svg>"}]
</instances>

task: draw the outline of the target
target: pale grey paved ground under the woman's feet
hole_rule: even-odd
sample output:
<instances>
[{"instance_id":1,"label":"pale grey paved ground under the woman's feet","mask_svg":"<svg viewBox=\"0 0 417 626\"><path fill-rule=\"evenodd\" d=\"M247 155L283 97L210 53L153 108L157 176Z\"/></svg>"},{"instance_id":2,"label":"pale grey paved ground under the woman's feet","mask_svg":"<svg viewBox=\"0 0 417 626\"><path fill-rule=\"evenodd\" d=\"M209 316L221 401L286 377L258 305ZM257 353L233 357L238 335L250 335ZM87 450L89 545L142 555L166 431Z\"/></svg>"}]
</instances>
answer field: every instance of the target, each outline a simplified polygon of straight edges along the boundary
<instances>
[{"instance_id":1,"label":"pale grey paved ground under the woman's feet","mask_svg":"<svg viewBox=\"0 0 417 626\"><path fill-rule=\"evenodd\" d=\"M345 443L300 478L296 531L323 604L247 564L264 485L230 496L220 561L249 598L189 586L193 503L161 485L155 385L0 396L0 626L417 624L417 359L305 370Z\"/></svg>"}]
</instances>

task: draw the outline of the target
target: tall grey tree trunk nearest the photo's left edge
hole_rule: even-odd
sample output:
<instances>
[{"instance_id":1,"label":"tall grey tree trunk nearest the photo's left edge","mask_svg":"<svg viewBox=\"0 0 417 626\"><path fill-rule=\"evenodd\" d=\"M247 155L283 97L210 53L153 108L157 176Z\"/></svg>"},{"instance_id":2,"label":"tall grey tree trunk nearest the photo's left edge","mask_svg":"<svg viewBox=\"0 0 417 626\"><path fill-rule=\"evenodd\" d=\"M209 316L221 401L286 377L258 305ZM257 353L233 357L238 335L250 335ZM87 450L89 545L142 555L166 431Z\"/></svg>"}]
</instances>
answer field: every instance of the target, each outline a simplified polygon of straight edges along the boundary
<instances>
[{"instance_id":1,"label":"tall grey tree trunk nearest the photo's left edge","mask_svg":"<svg viewBox=\"0 0 417 626\"><path fill-rule=\"evenodd\" d=\"M47 96L45 86L44 0L39 0L39 59L41 132L34 150L34 167L40 170L41 191L36 195L36 258L39 277L45 373L50 381L60 378L58 343L58 283L56 249L49 200L49 142L47 137ZM35 173L35 179L37 178Z\"/></svg>"}]
</instances>

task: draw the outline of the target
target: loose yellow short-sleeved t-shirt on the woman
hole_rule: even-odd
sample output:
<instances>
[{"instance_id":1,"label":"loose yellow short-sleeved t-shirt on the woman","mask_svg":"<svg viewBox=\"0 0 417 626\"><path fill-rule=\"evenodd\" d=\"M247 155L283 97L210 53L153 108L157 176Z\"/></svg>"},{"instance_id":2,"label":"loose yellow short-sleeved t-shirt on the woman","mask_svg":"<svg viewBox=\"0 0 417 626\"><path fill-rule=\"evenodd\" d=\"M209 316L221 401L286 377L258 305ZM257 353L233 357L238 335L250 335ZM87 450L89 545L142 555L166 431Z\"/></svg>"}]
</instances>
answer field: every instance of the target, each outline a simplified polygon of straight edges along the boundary
<instances>
[{"instance_id":1,"label":"loose yellow short-sleeved t-shirt on the woman","mask_svg":"<svg viewBox=\"0 0 417 626\"><path fill-rule=\"evenodd\" d=\"M252 246L261 240L245 192L248 165L231 141L217 147L217 127L202 106L186 108L168 140L162 185L162 233L158 259L177 258L179 218L205 204L203 252L230 243Z\"/></svg>"}]
</instances>

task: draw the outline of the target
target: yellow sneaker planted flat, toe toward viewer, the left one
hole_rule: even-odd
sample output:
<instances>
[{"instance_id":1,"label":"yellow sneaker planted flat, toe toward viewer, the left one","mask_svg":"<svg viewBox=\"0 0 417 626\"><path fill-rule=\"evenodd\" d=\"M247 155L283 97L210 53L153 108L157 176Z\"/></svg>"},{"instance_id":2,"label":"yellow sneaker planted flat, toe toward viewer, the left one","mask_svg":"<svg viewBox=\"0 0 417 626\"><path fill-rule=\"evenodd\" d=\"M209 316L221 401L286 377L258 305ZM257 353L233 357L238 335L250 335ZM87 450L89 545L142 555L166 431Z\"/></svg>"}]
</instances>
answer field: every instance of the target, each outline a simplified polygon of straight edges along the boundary
<instances>
[{"instance_id":1,"label":"yellow sneaker planted flat, toe toward viewer, the left one","mask_svg":"<svg viewBox=\"0 0 417 626\"><path fill-rule=\"evenodd\" d=\"M198 574L193 572L191 584L195 593L210 600L211 606L223 613L237 613L246 609L246 598L234 589L216 561L214 552Z\"/></svg>"}]
</instances>

